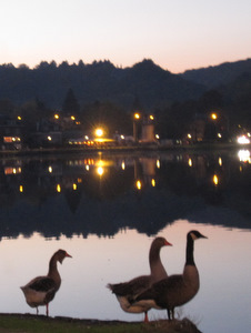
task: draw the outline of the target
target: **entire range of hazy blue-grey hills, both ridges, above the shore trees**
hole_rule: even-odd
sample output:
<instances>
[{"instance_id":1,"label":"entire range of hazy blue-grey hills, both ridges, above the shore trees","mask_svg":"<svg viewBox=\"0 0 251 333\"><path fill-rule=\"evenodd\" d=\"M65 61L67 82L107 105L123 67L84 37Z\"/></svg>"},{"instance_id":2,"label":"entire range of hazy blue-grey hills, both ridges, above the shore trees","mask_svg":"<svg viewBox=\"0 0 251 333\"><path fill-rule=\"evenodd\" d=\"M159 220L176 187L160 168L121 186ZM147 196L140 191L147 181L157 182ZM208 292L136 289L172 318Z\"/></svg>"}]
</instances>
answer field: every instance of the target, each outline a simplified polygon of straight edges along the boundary
<instances>
[{"instance_id":1,"label":"entire range of hazy blue-grey hills, both ridges, above the shore trees","mask_svg":"<svg viewBox=\"0 0 251 333\"><path fill-rule=\"evenodd\" d=\"M247 81L250 79L245 74L249 73L251 59L189 70L182 74L163 70L148 59L124 69L110 61L84 64L80 60L71 65L67 61L59 65L54 61L42 61L34 69L26 64L16 68L10 63L0 65L0 100L21 105L37 99L47 108L61 109L71 88L81 108L96 101L110 101L130 111L137 100L149 111L174 102L199 100L212 89L230 99L232 89L234 95L241 95L244 85L247 99Z\"/></svg>"}]
</instances>

